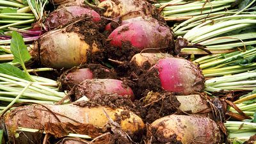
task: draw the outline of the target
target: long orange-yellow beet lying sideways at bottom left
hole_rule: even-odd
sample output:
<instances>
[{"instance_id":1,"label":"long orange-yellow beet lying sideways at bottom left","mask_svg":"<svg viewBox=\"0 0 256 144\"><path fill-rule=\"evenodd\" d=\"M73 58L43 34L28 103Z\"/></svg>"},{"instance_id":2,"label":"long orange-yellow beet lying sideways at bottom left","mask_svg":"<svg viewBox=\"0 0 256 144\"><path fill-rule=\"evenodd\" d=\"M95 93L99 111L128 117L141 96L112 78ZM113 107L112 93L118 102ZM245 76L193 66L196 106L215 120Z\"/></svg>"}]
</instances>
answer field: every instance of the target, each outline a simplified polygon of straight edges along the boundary
<instances>
[{"instance_id":1,"label":"long orange-yellow beet lying sideways at bottom left","mask_svg":"<svg viewBox=\"0 0 256 144\"><path fill-rule=\"evenodd\" d=\"M129 117L122 116L124 112L128 113ZM26 144L37 143L38 141L36 142L36 140L42 138L42 134L20 132L19 138L15 138L14 134L18 127L42 129L50 132L55 138L63 138L68 132L87 134L95 138L101 135L99 133L100 129L104 129L107 126L109 122L108 116L114 122L118 121L120 129L131 134L131 136L134 132L141 131L141 129L145 128L145 124L141 118L131 111L102 106L82 108L74 104L33 104L30 106L21 106L4 115L4 122L10 141L15 140L15 143ZM119 119L120 117L121 119ZM88 129L87 131L86 128ZM113 131L114 129L111 130Z\"/></svg>"}]
</instances>

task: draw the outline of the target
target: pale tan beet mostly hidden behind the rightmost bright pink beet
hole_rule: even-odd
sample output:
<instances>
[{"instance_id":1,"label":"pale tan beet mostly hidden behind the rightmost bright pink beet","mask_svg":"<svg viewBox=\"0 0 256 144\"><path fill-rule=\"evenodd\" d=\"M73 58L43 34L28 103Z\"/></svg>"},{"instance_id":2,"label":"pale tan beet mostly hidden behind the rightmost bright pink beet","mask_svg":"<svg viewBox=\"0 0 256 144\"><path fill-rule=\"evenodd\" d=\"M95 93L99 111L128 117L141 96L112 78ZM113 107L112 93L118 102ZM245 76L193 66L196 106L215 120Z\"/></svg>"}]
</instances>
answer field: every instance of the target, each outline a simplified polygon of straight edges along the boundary
<instances>
[{"instance_id":1,"label":"pale tan beet mostly hidden behind the rightmost bright pink beet","mask_svg":"<svg viewBox=\"0 0 256 144\"><path fill-rule=\"evenodd\" d=\"M151 67L155 65L160 59L168 57L172 58L173 56L167 53L140 53L135 54L132 57L131 63L135 63L138 67L142 67L147 62Z\"/></svg>"}]
</instances>

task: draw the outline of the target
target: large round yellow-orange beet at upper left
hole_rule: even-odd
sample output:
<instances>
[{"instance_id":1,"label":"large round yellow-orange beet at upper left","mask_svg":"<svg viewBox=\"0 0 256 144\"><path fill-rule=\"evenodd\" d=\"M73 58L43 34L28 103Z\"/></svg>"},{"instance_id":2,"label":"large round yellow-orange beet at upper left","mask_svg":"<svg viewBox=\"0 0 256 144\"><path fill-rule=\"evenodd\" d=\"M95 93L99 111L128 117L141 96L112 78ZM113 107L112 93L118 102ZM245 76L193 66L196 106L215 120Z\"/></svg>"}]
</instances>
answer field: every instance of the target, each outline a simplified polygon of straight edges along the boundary
<instances>
[{"instance_id":1,"label":"large round yellow-orange beet at upper left","mask_svg":"<svg viewBox=\"0 0 256 144\"><path fill-rule=\"evenodd\" d=\"M47 67L71 68L82 65L88 61L90 54L100 49L99 40L90 36L96 36L97 33L90 34L91 31L82 34L79 28L73 26L49 31L41 36L38 47L31 54Z\"/></svg>"}]
</instances>

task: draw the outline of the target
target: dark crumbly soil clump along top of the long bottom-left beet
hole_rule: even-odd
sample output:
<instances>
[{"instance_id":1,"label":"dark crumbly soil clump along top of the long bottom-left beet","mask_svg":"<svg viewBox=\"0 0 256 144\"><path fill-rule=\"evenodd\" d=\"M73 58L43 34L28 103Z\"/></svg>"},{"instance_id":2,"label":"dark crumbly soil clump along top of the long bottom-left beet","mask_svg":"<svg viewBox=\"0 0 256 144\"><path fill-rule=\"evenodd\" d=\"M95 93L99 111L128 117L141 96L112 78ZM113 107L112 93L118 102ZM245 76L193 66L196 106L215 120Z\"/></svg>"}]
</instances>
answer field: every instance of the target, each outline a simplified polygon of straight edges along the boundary
<instances>
[{"instance_id":1,"label":"dark crumbly soil clump along top of the long bottom-left beet","mask_svg":"<svg viewBox=\"0 0 256 144\"><path fill-rule=\"evenodd\" d=\"M146 95L145 95L146 96ZM132 111L140 116L145 123L152 123L157 118L171 115L177 111L180 102L172 93L153 93L150 92L141 100L134 102L127 97L120 97L117 94L96 95L90 101L74 102L77 106L90 108L95 106L108 106L110 108L122 108ZM124 111L120 118L129 118L128 111Z\"/></svg>"}]
</instances>

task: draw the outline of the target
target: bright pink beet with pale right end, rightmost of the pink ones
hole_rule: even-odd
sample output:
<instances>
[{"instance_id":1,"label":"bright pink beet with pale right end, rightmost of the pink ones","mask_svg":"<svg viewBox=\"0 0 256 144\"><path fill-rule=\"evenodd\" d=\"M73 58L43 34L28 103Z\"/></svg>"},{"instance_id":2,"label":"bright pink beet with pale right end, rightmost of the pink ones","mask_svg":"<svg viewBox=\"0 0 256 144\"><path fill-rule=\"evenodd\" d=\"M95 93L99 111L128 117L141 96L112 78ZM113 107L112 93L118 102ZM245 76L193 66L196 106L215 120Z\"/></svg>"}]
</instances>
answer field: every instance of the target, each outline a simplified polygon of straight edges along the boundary
<instances>
[{"instance_id":1,"label":"bright pink beet with pale right end, rightmost of the pink ones","mask_svg":"<svg viewBox=\"0 0 256 144\"><path fill-rule=\"evenodd\" d=\"M181 95L201 92L204 76L199 67L182 58L164 58L151 69L157 69L163 90Z\"/></svg>"}]
</instances>

